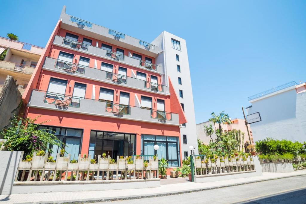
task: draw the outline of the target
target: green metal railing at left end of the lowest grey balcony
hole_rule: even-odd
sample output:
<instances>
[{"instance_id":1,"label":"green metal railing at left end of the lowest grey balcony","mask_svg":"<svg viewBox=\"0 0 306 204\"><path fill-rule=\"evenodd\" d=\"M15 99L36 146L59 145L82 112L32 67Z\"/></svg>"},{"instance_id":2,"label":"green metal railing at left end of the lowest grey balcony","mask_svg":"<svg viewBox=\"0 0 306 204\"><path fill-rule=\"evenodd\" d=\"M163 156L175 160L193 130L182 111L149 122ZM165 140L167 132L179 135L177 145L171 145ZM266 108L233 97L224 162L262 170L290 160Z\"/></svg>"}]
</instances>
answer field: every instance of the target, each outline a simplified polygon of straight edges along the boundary
<instances>
[{"instance_id":1,"label":"green metal railing at left end of the lowest grey balcony","mask_svg":"<svg viewBox=\"0 0 306 204\"><path fill-rule=\"evenodd\" d=\"M80 99L81 97L46 91L44 103L55 104L62 107L80 108Z\"/></svg>"}]
</instances>

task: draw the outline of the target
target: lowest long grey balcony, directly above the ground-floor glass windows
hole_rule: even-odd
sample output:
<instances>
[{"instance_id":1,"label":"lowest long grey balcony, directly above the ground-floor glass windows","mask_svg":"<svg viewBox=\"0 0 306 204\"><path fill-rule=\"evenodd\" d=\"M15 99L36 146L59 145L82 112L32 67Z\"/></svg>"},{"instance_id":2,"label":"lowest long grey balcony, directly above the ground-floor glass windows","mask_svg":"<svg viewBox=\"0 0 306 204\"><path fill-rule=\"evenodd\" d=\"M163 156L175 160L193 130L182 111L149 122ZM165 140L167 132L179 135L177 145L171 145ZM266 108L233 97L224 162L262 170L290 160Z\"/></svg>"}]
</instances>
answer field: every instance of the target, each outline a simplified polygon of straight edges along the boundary
<instances>
[{"instance_id":1,"label":"lowest long grey balcony, directly above the ground-floor glass windows","mask_svg":"<svg viewBox=\"0 0 306 204\"><path fill-rule=\"evenodd\" d=\"M148 123L179 125L178 114L33 90L29 107Z\"/></svg>"}]
</instances>

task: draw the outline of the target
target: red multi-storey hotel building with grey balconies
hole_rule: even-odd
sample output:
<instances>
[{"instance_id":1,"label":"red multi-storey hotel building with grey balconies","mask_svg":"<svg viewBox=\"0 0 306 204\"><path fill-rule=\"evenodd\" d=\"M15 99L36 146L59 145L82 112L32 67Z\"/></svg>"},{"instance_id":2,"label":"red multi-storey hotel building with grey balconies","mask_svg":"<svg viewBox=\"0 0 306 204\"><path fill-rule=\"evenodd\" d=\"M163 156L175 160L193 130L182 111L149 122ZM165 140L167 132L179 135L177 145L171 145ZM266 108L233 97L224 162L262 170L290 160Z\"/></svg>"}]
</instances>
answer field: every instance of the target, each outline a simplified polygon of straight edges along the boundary
<instances>
[{"instance_id":1,"label":"red multi-storey hotel building with grey balconies","mask_svg":"<svg viewBox=\"0 0 306 204\"><path fill-rule=\"evenodd\" d=\"M71 159L78 154L92 158L102 153L112 158L158 154L169 167L180 166L186 149L181 124L188 118L176 90L177 79L168 74L177 68L165 63L171 37L162 37L163 32L146 43L65 10L64 6L24 92L25 117L40 115L37 122L48 121L39 128L53 130L66 143ZM164 46L165 40L170 48ZM187 60L185 42L179 40ZM184 74L191 92L189 72ZM186 95L192 97L188 91ZM188 111L193 111L193 104ZM154 150L155 144L159 150ZM54 158L58 151L54 147Z\"/></svg>"}]
</instances>

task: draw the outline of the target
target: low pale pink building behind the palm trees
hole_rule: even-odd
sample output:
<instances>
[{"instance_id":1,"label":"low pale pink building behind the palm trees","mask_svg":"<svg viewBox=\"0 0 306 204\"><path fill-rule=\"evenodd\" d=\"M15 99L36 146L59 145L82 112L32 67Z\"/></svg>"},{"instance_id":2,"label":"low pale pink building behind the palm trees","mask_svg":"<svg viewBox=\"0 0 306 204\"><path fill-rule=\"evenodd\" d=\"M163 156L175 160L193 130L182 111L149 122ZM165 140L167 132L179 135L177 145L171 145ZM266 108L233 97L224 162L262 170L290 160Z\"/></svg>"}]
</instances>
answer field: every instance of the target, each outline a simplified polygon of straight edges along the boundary
<instances>
[{"instance_id":1,"label":"low pale pink building behind the palm trees","mask_svg":"<svg viewBox=\"0 0 306 204\"><path fill-rule=\"evenodd\" d=\"M246 141L248 141L248 143L250 143L250 140L249 140L249 137L248 137L248 130L249 130L252 144L254 144L253 134L252 134L252 130L251 130L250 125L248 124L248 130L247 130L247 127L245 126L245 123L244 123L244 119L236 118L236 119L233 119L231 121L232 121L232 124L221 124L222 132L230 132L232 130L240 130L241 132L244 132L244 143ZM208 144L209 141L211 140L211 138L212 139L216 138L216 134L214 133L213 135L211 135L211 138L209 136L206 136L206 131L205 131L204 125L209 126L210 122L206 121L206 122L203 122L203 123L196 124L196 135L197 135L198 139L203 141L203 143ZM216 123L213 127L214 127L214 130L217 130L217 129L219 129L219 124Z\"/></svg>"}]
</instances>

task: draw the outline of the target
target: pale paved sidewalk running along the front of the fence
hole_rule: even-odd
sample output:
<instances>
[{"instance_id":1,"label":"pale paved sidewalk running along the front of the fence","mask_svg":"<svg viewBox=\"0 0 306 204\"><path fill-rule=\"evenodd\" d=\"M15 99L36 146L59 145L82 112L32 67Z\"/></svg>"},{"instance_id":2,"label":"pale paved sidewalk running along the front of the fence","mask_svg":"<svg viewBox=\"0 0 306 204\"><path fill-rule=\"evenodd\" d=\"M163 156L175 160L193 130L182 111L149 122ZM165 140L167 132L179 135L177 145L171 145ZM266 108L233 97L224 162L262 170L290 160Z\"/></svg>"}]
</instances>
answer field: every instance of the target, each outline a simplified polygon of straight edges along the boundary
<instances>
[{"instance_id":1,"label":"pale paved sidewalk running along the front of the fence","mask_svg":"<svg viewBox=\"0 0 306 204\"><path fill-rule=\"evenodd\" d=\"M184 182L178 184L161 185L161 187L144 189L126 189L112 191L79 191L79 192L57 192L57 193L32 193L32 194L14 194L0 195L1 204L6 203L77 203L77 202L102 202L117 199L132 199L141 197L155 197L163 195L174 195L194 191L203 191L213 188L234 186L259 182L264 180L273 180L283 177L306 175L306 170L298 170L292 173L263 173L263 176L254 176L250 178L232 179L196 184L194 182ZM82 187L80 186L80 190Z\"/></svg>"}]
</instances>

